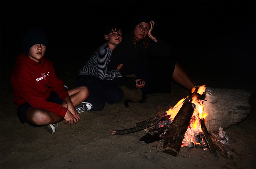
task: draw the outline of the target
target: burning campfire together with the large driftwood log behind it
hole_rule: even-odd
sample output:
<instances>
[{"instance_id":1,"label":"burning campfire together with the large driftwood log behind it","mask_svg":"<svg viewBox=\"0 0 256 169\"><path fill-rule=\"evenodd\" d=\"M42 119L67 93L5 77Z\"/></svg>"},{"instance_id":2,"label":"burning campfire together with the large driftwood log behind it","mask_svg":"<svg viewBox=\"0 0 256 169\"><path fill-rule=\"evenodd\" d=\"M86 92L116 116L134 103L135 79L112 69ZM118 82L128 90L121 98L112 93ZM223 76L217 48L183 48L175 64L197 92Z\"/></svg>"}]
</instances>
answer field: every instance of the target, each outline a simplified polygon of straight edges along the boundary
<instances>
[{"instance_id":1,"label":"burning campfire together with the large driftwood log behind it","mask_svg":"<svg viewBox=\"0 0 256 169\"><path fill-rule=\"evenodd\" d=\"M228 139L224 129L249 115L249 97L250 93L245 90L214 89L203 85L164 114L137 123L134 128L110 133L121 135L147 129L147 134L140 140L150 143L164 139L163 153L177 156L183 146L201 147L209 149L216 158L218 150L231 159L230 151L220 141Z\"/></svg>"}]
</instances>

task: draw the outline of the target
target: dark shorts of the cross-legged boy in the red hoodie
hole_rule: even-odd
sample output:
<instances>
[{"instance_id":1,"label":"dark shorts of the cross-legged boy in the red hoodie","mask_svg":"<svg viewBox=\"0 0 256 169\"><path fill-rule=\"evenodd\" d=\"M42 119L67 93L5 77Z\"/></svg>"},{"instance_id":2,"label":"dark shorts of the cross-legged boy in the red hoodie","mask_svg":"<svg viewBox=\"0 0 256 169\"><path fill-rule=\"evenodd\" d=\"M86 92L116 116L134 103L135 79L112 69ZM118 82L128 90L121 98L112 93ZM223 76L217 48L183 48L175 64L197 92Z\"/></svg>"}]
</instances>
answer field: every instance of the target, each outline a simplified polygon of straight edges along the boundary
<instances>
[{"instance_id":1,"label":"dark shorts of the cross-legged boy in the red hoodie","mask_svg":"<svg viewBox=\"0 0 256 169\"><path fill-rule=\"evenodd\" d=\"M63 100L59 97L59 95L57 93L55 93L54 91L50 92L50 97L47 99L47 101L57 103L57 104L61 104L63 102ZM20 119L20 122L22 124L27 122L31 126L38 127L37 125L31 124L26 119L25 113L26 113L26 111L29 107L32 107L32 106L28 103L25 103L25 104L20 105L20 106L17 107L17 115Z\"/></svg>"}]
</instances>

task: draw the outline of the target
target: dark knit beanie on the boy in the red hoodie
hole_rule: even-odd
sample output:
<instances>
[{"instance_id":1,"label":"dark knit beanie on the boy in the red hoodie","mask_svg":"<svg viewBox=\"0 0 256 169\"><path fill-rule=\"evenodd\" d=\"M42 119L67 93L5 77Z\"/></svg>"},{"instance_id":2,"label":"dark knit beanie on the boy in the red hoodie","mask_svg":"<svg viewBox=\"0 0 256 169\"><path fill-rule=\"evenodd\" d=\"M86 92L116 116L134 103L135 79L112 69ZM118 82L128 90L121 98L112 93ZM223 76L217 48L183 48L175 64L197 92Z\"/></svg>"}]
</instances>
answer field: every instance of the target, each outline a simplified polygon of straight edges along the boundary
<instances>
[{"instance_id":1,"label":"dark knit beanie on the boy in the red hoodie","mask_svg":"<svg viewBox=\"0 0 256 169\"><path fill-rule=\"evenodd\" d=\"M29 49L35 44L44 44L47 48L47 38L40 28L32 28L27 31L22 39L22 49L28 54Z\"/></svg>"}]
</instances>

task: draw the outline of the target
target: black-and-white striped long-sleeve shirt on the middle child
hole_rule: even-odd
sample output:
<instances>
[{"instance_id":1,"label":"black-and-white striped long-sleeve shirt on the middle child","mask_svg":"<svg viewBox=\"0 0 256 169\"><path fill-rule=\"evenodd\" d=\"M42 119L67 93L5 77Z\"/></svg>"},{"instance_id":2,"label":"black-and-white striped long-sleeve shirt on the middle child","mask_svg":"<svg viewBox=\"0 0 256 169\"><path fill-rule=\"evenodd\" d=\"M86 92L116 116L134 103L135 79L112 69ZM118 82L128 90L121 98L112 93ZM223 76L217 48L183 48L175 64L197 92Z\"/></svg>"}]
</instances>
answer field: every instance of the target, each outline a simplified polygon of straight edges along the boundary
<instances>
[{"instance_id":1,"label":"black-and-white striped long-sleeve shirt on the middle child","mask_svg":"<svg viewBox=\"0 0 256 169\"><path fill-rule=\"evenodd\" d=\"M112 50L109 49L107 43L104 43L89 57L88 61L80 69L79 75L95 76L101 80L113 80L122 77L119 70L107 70L111 55Z\"/></svg>"}]
</instances>

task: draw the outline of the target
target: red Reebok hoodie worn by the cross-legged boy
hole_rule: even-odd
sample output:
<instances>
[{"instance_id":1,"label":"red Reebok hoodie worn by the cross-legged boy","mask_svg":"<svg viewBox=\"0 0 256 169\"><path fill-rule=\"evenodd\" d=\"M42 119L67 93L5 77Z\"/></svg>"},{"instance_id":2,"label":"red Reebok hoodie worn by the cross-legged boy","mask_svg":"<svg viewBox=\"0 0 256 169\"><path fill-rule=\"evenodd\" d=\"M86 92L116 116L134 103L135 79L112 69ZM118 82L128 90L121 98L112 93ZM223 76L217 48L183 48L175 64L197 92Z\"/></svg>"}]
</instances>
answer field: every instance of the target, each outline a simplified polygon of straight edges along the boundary
<instances>
[{"instance_id":1,"label":"red Reebok hoodie worn by the cross-legged boy","mask_svg":"<svg viewBox=\"0 0 256 169\"><path fill-rule=\"evenodd\" d=\"M67 108L46 101L50 91L53 90L62 100L69 97L62 80L55 74L53 63L47 58L43 57L39 65L25 53L20 54L16 58L11 83L14 93L13 101L17 107L27 102L32 107L43 108L62 117L65 116Z\"/></svg>"}]
</instances>

